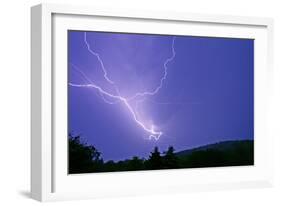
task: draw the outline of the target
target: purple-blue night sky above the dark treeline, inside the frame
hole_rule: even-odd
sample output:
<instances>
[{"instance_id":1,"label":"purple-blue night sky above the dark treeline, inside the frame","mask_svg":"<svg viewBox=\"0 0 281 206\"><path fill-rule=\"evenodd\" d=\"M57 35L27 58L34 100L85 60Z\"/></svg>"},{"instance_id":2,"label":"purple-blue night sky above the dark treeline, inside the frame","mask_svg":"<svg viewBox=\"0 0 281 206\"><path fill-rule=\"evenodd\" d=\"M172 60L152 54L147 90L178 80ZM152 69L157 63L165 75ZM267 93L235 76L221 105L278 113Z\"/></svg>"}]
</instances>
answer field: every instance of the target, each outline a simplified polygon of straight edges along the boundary
<instances>
[{"instance_id":1,"label":"purple-blue night sky above the dark treeline, inside the frame","mask_svg":"<svg viewBox=\"0 0 281 206\"><path fill-rule=\"evenodd\" d=\"M159 140L123 101L89 86L126 99L152 92L165 62L161 89L128 100L138 121L163 133ZM253 62L252 39L69 31L69 132L106 161L146 158L154 146L253 139Z\"/></svg>"}]
</instances>

